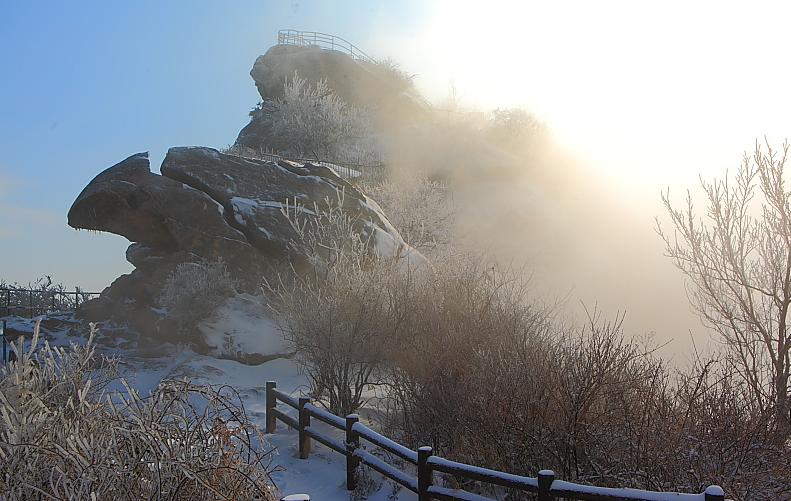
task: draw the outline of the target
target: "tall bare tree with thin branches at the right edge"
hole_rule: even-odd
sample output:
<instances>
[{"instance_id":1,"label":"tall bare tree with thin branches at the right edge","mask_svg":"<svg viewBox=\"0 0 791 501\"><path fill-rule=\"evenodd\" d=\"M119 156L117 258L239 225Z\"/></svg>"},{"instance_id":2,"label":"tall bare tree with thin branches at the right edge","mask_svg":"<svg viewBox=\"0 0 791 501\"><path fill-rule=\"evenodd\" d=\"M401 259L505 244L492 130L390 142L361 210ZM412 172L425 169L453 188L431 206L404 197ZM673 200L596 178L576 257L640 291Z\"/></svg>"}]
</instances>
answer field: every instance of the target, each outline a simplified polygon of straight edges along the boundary
<instances>
[{"instance_id":1,"label":"tall bare tree with thin branches at the right edge","mask_svg":"<svg viewBox=\"0 0 791 501\"><path fill-rule=\"evenodd\" d=\"M781 437L791 432L789 332L791 191L783 179L788 143L756 143L736 176L705 182L705 218L662 202L675 229L658 232L668 257L690 280L690 301L722 338L733 367L761 411L773 411Z\"/></svg>"}]
</instances>

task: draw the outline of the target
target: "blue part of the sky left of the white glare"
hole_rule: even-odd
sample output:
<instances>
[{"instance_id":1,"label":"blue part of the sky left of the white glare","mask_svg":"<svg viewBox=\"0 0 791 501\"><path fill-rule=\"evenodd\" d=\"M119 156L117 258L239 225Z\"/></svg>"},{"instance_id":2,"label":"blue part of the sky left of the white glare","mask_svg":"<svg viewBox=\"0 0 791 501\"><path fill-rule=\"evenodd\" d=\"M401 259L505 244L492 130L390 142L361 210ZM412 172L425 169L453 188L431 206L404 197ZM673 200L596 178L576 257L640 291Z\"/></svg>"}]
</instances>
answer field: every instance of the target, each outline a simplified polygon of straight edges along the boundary
<instances>
[{"instance_id":1,"label":"blue part of the sky left of the white glare","mask_svg":"<svg viewBox=\"0 0 791 501\"><path fill-rule=\"evenodd\" d=\"M175 145L222 147L258 94L249 71L280 28L364 44L417 2L0 0L0 278L101 289L128 242L66 225L93 176Z\"/></svg>"}]
</instances>

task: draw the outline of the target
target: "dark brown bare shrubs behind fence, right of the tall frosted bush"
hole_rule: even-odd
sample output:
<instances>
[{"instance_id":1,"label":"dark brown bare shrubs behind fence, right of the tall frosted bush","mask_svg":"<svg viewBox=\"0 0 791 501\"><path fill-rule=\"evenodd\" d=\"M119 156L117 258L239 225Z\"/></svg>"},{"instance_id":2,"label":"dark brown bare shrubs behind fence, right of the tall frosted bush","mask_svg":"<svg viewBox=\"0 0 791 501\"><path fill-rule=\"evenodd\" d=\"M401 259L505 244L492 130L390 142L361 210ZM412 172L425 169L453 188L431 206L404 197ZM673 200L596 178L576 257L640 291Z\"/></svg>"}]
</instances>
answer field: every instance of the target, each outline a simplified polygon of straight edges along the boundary
<instances>
[{"instance_id":1,"label":"dark brown bare shrubs behind fence, right of the tall frosted bush","mask_svg":"<svg viewBox=\"0 0 791 501\"><path fill-rule=\"evenodd\" d=\"M788 495L787 446L773 445L771 420L745 405L748 387L725 361L673 370L624 337L621 317L594 312L567 326L551 309L513 301L518 288L453 292L475 291L479 281L450 282L434 296L465 308L424 310L410 325L414 342L387 378L391 433L523 475L549 468L603 486L700 492L720 484L736 499ZM479 300L459 301L465 296Z\"/></svg>"}]
</instances>

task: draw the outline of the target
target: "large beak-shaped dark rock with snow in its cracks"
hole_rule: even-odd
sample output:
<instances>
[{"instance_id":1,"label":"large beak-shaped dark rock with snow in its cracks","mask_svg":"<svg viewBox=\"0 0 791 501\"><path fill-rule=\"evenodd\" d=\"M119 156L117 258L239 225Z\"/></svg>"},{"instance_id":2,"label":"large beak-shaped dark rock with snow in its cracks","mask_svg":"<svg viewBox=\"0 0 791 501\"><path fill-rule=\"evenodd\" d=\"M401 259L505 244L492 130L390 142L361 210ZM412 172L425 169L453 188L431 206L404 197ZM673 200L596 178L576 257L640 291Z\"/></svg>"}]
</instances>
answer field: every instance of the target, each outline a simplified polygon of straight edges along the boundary
<instances>
[{"instance_id":1,"label":"large beak-shaped dark rock with snow in its cracks","mask_svg":"<svg viewBox=\"0 0 791 501\"><path fill-rule=\"evenodd\" d=\"M253 289L269 266L307 266L301 241L281 208L288 200L305 208L338 200L370 237L371 250L423 261L387 221L376 202L327 167L251 160L202 147L171 148L152 173L148 154L138 153L105 170L83 189L69 210L69 225L106 231L133 242L126 252L135 266L79 315L127 322L143 334L172 329L157 298L179 263L222 259ZM310 211L305 211L310 213Z\"/></svg>"}]
</instances>

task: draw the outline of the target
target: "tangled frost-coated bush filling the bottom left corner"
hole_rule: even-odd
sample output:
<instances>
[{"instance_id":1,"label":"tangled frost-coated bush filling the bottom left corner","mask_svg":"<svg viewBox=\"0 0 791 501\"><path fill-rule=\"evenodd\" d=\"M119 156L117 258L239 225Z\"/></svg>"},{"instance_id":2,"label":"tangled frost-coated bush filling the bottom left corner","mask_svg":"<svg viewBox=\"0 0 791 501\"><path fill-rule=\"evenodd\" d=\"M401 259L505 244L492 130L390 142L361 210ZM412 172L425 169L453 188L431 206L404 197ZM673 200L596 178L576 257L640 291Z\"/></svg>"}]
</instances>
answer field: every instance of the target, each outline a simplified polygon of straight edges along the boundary
<instances>
[{"instance_id":1,"label":"tangled frost-coated bush filling the bottom left corner","mask_svg":"<svg viewBox=\"0 0 791 501\"><path fill-rule=\"evenodd\" d=\"M92 344L38 343L0 369L0 498L277 499L262 438L227 387L141 396Z\"/></svg>"}]
</instances>

